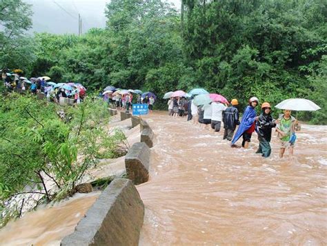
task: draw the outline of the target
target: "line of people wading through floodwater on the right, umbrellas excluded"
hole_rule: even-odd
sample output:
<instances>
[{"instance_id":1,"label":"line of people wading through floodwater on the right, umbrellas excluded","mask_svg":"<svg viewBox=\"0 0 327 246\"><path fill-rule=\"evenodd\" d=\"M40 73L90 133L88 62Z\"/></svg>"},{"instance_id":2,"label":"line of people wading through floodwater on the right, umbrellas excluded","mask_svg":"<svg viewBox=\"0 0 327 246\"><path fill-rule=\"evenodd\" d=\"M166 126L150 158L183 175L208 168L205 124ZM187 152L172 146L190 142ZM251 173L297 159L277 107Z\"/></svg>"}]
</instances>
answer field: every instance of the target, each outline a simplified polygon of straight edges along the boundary
<instances>
[{"instance_id":1,"label":"line of people wading through floodwater on the right, umbrellas excluded","mask_svg":"<svg viewBox=\"0 0 327 246\"><path fill-rule=\"evenodd\" d=\"M188 115L188 121L192 123L200 123L201 127L211 129L215 132L221 130L221 122L224 123L223 139L231 142L232 147L237 147L235 143L242 138L241 146L248 148L252 133L257 132L259 147L257 154L263 157L269 157L271 154L271 136L273 128L276 129L277 136L280 141L279 157L282 158L286 149L289 150L290 157L293 158L293 150L297 139L295 130L298 125L295 117L291 116L291 110L284 110L278 119L273 119L271 115L270 103L261 104L261 114L257 116L255 108L259 105L259 99L253 96L250 98L241 121L239 121L239 105L237 99L232 99L230 106L221 102L212 102L207 105L195 105L193 99L171 98L168 101L168 111L170 116ZM187 105L185 107L185 105ZM182 115L179 114L179 108L183 107ZM184 114L184 112L187 112ZM238 127L237 127L238 125ZM237 129L237 130L236 130ZM236 132L235 132L236 130Z\"/></svg>"}]
</instances>

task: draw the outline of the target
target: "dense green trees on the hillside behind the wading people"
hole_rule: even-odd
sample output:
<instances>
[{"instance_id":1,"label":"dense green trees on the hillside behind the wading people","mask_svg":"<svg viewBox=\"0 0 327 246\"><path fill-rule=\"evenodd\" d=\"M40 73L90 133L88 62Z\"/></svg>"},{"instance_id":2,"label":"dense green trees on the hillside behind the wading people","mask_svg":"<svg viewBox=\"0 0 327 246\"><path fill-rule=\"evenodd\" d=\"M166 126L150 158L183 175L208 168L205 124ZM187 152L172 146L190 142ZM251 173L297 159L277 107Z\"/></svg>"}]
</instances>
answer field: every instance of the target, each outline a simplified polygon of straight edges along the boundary
<instances>
[{"instance_id":1,"label":"dense green trees on the hillside behind the wading people","mask_svg":"<svg viewBox=\"0 0 327 246\"><path fill-rule=\"evenodd\" d=\"M90 90L115 85L161 98L200 86L241 107L252 95L273 105L311 99L322 110L299 116L327 123L326 1L183 0L179 14L160 0L112 0L106 16L106 29L81 37L35 34L30 62L14 60L29 65L27 76L79 81Z\"/></svg>"}]
</instances>

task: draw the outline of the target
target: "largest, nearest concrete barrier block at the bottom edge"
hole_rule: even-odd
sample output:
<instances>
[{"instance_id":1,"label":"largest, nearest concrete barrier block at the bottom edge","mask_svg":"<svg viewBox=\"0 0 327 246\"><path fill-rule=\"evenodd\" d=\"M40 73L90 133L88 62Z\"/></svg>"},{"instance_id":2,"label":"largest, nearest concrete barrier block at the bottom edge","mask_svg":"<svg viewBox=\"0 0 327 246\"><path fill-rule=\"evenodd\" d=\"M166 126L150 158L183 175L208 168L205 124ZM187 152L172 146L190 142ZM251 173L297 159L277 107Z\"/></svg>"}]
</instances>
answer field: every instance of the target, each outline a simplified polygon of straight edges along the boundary
<instances>
[{"instance_id":1,"label":"largest, nearest concrete barrier block at the bottom edge","mask_svg":"<svg viewBox=\"0 0 327 246\"><path fill-rule=\"evenodd\" d=\"M116 178L61 246L139 245L144 205L131 181Z\"/></svg>"}]
</instances>

